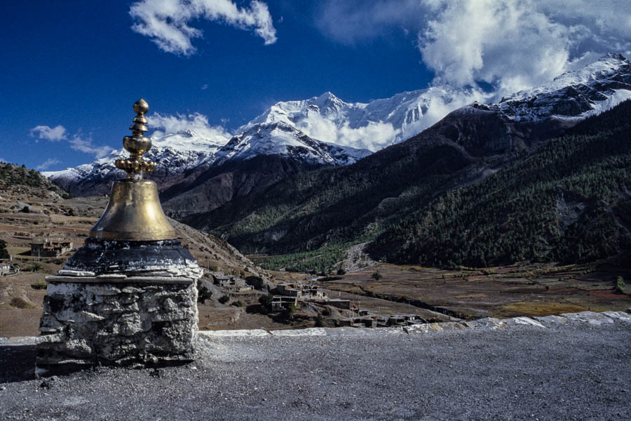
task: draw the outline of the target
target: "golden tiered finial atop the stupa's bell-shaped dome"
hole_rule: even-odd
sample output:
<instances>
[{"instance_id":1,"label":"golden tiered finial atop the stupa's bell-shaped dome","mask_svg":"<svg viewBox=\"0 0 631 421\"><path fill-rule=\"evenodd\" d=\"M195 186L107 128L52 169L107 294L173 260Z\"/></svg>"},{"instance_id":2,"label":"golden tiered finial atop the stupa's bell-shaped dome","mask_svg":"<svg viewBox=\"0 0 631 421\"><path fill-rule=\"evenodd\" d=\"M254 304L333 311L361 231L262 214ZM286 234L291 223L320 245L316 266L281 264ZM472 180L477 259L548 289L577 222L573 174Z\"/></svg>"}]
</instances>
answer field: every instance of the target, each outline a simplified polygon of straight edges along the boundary
<instances>
[{"instance_id":1,"label":"golden tiered finial atop the stupa's bell-shaped dome","mask_svg":"<svg viewBox=\"0 0 631 421\"><path fill-rule=\"evenodd\" d=\"M154 171L156 169L156 163L151 161L145 161L142 157L151 149L151 139L144 137L144 132L147 131L147 119L144 114L149 111L149 104L147 101L140 98L134 104L135 116L134 122L129 127L132 131L131 136L125 136L123 138L123 147L131 154L128 159L116 159L114 165L119 170L127 171L127 178L130 180L142 179L143 173Z\"/></svg>"}]
</instances>

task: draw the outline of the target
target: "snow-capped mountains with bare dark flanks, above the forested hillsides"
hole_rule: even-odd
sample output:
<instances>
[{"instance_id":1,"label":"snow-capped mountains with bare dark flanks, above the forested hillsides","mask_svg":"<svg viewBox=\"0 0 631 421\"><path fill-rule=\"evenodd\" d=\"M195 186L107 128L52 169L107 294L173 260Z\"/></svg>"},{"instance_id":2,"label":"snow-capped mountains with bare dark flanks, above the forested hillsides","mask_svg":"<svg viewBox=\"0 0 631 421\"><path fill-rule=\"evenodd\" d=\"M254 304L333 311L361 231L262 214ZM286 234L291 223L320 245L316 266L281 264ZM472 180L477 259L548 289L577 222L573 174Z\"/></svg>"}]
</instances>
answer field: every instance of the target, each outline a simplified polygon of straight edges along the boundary
<instances>
[{"instance_id":1,"label":"snow-capped mountains with bare dark flanks, above the forested hillsides","mask_svg":"<svg viewBox=\"0 0 631 421\"><path fill-rule=\"evenodd\" d=\"M373 149L391 145L433 123L436 109L457 107L472 95L433 87L369 103L347 103L332 93L278 102L230 140L205 139L192 131L154 140L149 158L158 161L158 169L147 178L158 182L165 211L185 218L304 171L355 163L370 151L331 142ZM456 109L429 133L459 145L470 158L503 155L562 135L625 98L631 98L631 65L621 55L609 54L499 102L473 102ZM94 163L46 175L76 195L107 194L119 176L111 163L121 154L122 149Z\"/></svg>"}]
</instances>

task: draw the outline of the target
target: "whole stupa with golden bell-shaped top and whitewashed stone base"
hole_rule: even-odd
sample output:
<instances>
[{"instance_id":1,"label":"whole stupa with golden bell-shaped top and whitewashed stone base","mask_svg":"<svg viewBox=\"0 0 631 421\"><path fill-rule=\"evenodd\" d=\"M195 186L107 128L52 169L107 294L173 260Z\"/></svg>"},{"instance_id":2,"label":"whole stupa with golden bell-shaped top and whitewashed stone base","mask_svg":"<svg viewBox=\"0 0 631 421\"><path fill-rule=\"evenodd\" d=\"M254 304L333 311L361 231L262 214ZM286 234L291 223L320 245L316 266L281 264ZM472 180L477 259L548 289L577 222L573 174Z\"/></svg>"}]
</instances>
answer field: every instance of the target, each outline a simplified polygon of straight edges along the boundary
<instances>
[{"instance_id":1,"label":"whole stupa with golden bell-shaped top and whitewashed stone base","mask_svg":"<svg viewBox=\"0 0 631 421\"><path fill-rule=\"evenodd\" d=\"M83 246L46 277L38 375L194 359L203 270L165 217L156 183L142 179L156 168L142 156L151 149L144 137L149 105L140 99L133 109L132 135L123 138L130 156L115 161L127 178L114 182Z\"/></svg>"}]
</instances>

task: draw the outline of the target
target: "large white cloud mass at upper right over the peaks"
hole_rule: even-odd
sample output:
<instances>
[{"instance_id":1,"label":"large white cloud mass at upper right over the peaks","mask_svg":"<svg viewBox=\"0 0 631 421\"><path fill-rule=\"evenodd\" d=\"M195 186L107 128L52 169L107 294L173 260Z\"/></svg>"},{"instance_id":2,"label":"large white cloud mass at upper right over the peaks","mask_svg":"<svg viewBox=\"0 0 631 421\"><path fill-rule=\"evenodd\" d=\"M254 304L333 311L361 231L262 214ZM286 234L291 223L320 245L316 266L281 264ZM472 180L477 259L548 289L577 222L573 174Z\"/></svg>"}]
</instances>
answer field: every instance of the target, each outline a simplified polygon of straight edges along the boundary
<instances>
[{"instance_id":1,"label":"large white cloud mass at upper right over the peaks","mask_svg":"<svg viewBox=\"0 0 631 421\"><path fill-rule=\"evenodd\" d=\"M316 23L346 44L403 27L416 33L435 85L483 81L498 95L551 81L604 53L631 53L631 1L329 0Z\"/></svg>"}]
</instances>

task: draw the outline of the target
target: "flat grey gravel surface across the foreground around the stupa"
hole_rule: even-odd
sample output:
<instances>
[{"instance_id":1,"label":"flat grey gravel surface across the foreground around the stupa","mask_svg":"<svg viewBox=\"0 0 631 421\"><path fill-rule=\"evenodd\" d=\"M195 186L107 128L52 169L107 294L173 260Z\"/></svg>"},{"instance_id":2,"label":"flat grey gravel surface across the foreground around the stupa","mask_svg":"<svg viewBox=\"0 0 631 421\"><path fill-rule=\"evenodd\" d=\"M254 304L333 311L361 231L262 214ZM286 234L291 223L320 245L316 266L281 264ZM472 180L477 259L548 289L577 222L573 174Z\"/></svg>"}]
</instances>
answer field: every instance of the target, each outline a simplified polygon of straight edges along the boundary
<instances>
[{"instance_id":1,"label":"flat grey gravel surface across the foreground around the stupa","mask_svg":"<svg viewBox=\"0 0 631 421\"><path fill-rule=\"evenodd\" d=\"M204 335L188 366L40 380L33 345L0 342L0 419L631 419L629 321L312 332Z\"/></svg>"}]
</instances>

